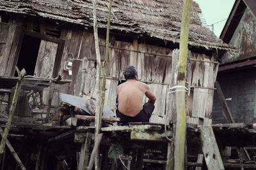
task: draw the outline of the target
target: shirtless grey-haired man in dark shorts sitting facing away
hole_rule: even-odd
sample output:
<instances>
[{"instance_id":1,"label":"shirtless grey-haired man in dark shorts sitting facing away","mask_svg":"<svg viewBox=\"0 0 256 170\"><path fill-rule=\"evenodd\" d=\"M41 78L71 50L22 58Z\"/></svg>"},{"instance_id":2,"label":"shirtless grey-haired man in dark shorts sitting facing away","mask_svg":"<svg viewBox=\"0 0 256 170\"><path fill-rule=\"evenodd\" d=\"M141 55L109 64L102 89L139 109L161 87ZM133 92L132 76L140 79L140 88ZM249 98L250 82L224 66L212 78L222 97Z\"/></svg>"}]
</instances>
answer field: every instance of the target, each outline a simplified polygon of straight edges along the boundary
<instances>
[{"instance_id":1,"label":"shirtless grey-haired man in dark shorts sitting facing away","mask_svg":"<svg viewBox=\"0 0 256 170\"><path fill-rule=\"evenodd\" d=\"M125 67L123 74L126 81L116 89L116 116L121 119L120 123L149 122L155 108L156 96L150 92L146 83L138 81L138 73L134 66ZM142 105L144 94L148 97L148 103Z\"/></svg>"}]
</instances>

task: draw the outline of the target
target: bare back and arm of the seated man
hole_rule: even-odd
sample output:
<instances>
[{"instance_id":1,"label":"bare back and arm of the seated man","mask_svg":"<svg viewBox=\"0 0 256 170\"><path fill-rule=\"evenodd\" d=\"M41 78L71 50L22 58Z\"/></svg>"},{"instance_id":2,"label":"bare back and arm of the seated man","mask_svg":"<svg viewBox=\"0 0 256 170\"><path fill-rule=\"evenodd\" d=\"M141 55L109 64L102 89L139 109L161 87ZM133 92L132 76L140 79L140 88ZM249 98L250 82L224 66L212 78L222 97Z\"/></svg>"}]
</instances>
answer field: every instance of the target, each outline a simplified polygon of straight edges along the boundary
<instances>
[{"instance_id":1,"label":"bare back and arm of the seated man","mask_svg":"<svg viewBox=\"0 0 256 170\"><path fill-rule=\"evenodd\" d=\"M142 110L142 99L144 94L148 97L148 101L155 103L156 97L146 83L138 81L138 76L134 79L128 79L125 83L118 85L118 110L127 116L134 117Z\"/></svg>"}]
</instances>

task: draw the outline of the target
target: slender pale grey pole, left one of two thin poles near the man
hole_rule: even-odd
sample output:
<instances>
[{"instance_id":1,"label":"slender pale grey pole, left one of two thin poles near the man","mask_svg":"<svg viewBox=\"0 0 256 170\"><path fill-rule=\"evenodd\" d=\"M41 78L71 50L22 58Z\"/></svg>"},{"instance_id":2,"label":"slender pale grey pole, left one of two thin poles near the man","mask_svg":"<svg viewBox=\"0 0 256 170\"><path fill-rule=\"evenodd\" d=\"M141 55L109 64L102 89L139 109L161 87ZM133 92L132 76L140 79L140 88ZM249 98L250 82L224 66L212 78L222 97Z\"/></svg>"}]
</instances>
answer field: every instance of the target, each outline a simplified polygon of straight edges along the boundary
<instances>
[{"instance_id":1,"label":"slender pale grey pole, left one of two thin poles near the man","mask_svg":"<svg viewBox=\"0 0 256 170\"><path fill-rule=\"evenodd\" d=\"M93 0L93 34L95 40L95 52L96 52L96 59L97 59L97 66L96 66L96 111L95 111L95 140L94 143L97 143L97 138L100 132L101 127L101 117L100 115L100 48L99 48L99 38L98 38L98 31L97 31L97 1ZM95 147L96 145L94 145ZM95 169L99 169L99 152L95 153L94 157L95 162Z\"/></svg>"}]
</instances>

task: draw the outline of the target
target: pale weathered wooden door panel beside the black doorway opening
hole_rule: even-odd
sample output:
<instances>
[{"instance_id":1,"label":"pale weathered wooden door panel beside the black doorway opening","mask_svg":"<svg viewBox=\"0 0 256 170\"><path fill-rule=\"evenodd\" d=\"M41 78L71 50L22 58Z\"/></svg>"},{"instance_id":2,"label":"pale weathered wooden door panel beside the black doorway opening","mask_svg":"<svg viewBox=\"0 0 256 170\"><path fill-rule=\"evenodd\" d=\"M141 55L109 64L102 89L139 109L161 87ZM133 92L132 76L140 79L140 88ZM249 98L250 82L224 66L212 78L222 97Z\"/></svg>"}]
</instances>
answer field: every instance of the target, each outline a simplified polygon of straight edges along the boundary
<instances>
[{"instance_id":1,"label":"pale weathered wooden door panel beside the black doorway opening","mask_svg":"<svg viewBox=\"0 0 256 170\"><path fill-rule=\"evenodd\" d=\"M34 75L37 77L51 78L58 50L58 43L41 40Z\"/></svg>"}]
</instances>

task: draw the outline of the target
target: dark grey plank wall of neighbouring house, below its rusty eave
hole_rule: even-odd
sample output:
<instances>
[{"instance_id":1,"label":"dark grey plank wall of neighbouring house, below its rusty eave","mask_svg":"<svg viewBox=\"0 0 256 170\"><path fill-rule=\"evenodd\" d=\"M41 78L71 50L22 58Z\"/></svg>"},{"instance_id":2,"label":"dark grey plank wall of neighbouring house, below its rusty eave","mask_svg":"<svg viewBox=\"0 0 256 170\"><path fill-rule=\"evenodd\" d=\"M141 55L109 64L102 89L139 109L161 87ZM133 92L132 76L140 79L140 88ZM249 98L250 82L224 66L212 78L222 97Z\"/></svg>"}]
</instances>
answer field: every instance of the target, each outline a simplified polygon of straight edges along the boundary
<instances>
[{"instance_id":1,"label":"dark grey plank wall of neighbouring house, below its rusty eave","mask_svg":"<svg viewBox=\"0 0 256 170\"><path fill-rule=\"evenodd\" d=\"M232 98L227 103L237 123L252 123L255 120L255 80L256 69L252 68L218 74L218 81L225 98ZM214 124L226 122L217 95L214 95L212 122Z\"/></svg>"}]
</instances>

